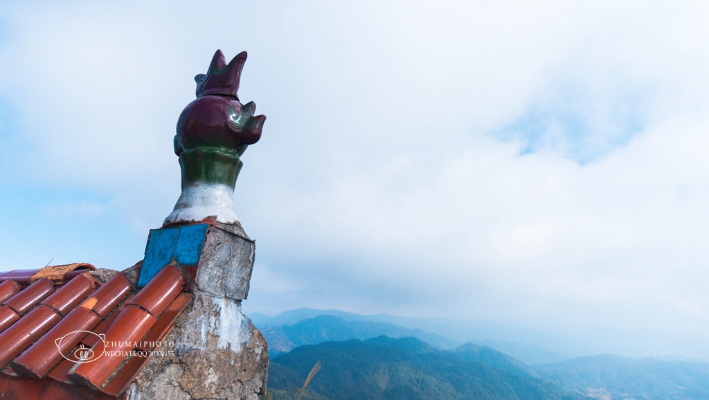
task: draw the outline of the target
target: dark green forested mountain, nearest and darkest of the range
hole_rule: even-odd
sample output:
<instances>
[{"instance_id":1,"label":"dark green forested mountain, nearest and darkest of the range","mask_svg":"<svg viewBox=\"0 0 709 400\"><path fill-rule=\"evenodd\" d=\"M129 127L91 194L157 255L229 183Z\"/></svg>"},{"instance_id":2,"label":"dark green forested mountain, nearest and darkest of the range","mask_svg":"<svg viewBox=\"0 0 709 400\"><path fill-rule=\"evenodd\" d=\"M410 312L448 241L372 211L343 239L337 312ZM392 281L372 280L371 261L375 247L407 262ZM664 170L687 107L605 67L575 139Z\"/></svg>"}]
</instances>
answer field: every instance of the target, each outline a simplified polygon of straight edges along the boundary
<instances>
[{"instance_id":1,"label":"dark green forested mountain, nearest and darkest of the range","mask_svg":"<svg viewBox=\"0 0 709 400\"><path fill-rule=\"evenodd\" d=\"M413 337L376 337L297 347L271 360L269 391L274 400L296 399L313 364L323 369L311 381L304 399L318 400L581 400L549 382L490 367L474 360L486 356L501 367L506 355L475 346L437 350ZM518 363L518 362L517 362ZM532 372L533 373L533 372Z\"/></svg>"}]
</instances>

